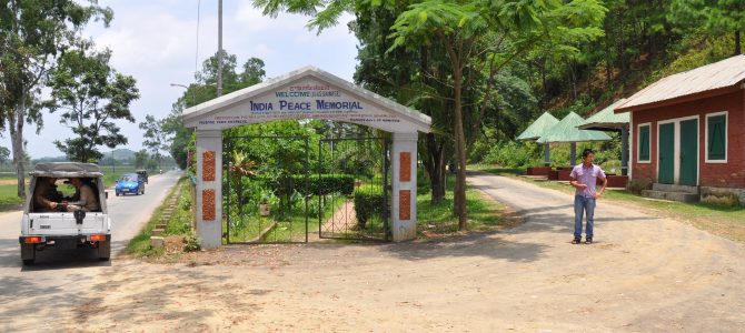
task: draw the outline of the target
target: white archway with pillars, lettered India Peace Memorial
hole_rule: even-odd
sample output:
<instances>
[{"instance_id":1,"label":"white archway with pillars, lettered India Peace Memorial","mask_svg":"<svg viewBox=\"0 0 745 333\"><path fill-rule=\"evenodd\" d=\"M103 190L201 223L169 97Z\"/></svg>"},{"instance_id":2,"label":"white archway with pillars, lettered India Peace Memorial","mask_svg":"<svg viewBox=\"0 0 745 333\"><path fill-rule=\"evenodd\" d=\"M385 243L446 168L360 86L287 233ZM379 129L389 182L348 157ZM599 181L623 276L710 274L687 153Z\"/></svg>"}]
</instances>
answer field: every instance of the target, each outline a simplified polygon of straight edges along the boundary
<instances>
[{"instance_id":1,"label":"white archway with pillars, lettered India Peace Memorial","mask_svg":"<svg viewBox=\"0 0 745 333\"><path fill-rule=\"evenodd\" d=\"M315 67L222 95L183 112L197 132L197 234L205 248L222 243L222 130L288 119L350 122L393 133L391 232L416 238L417 138L431 119Z\"/></svg>"}]
</instances>

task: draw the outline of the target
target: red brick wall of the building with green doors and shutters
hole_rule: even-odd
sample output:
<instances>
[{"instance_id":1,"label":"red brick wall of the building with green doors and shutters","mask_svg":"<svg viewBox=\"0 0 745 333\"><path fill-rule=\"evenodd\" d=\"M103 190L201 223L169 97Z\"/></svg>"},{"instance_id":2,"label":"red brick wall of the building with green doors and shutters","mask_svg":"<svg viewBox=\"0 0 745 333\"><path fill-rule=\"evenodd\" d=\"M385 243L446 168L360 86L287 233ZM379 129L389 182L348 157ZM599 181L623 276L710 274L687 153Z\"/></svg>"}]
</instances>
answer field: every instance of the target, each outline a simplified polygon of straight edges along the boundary
<instances>
[{"instance_id":1,"label":"red brick wall of the building with green doors and shutters","mask_svg":"<svg viewBox=\"0 0 745 333\"><path fill-rule=\"evenodd\" d=\"M728 111L727 163L706 163L706 114ZM745 188L745 90L701 99L697 101L634 112L633 117L633 178L657 180L657 122L698 115L698 185L716 188ZM638 163L638 124L650 123L649 163Z\"/></svg>"}]
</instances>

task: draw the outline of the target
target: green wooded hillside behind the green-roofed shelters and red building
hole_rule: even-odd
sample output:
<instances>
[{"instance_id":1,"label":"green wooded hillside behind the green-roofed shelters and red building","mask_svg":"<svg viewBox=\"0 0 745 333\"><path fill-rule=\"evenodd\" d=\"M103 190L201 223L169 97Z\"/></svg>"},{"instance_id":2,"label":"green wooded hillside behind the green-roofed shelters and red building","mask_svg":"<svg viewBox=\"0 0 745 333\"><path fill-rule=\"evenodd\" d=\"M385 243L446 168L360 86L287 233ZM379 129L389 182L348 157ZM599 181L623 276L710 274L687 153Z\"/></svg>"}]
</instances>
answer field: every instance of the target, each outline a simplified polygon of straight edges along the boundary
<instances>
[{"instance_id":1,"label":"green wooded hillside behind the green-roofed shelters and red building","mask_svg":"<svg viewBox=\"0 0 745 333\"><path fill-rule=\"evenodd\" d=\"M719 2L725 1L605 1L604 37L577 44L580 56L557 57L546 46L503 74L509 77L509 84L496 87L503 105L487 117L469 160L539 164L542 147L509 142L544 111L557 119L569 112L587 118L664 77L742 53L738 31L745 26L745 2ZM727 6L733 11L722 13ZM715 13L719 17L711 17ZM600 150L600 163L617 165L620 138L612 137L610 142L583 147ZM566 164L568 149L553 147L552 163Z\"/></svg>"}]
</instances>

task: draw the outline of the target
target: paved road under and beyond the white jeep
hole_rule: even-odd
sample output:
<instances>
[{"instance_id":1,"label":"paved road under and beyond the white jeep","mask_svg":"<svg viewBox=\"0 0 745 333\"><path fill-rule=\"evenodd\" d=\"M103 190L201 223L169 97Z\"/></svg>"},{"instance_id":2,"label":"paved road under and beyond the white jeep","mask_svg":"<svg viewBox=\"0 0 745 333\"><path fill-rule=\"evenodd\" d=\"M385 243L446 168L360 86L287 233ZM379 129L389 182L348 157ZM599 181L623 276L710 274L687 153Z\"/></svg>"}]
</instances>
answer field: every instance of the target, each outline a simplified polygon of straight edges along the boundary
<instances>
[{"instance_id":1,"label":"paved road under and beyond the white jeep","mask_svg":"<svg viewBox=\"0 0 745 333\"><path fill-rule=\"evenodd\" d=\"M96 292L90 290L93 278L101 269L117 265L115 253L147 223L179 176L179 172L150 176L145 195L109 194L115 255L109 262L99 261L92 250L64 250L39 252L33 266L22 266L21 212L0 213L0 332L60 330L56 323L78 305L78 295Z\"/></svg>"}]
</instances>

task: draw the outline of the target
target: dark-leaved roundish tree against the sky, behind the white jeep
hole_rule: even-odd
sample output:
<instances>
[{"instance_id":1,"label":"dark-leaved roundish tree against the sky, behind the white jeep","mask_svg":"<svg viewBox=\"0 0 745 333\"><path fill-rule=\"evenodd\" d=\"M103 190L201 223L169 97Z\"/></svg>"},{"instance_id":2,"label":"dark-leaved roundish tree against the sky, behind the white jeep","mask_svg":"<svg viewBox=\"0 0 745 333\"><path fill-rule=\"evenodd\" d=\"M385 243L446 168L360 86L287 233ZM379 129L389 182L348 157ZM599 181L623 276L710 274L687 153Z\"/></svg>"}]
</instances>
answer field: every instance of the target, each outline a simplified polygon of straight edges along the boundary
<instances>
[{"instance_id":1,"label":"dark-leaved roundish tree against the sky, behind the white jeep","mask_svg":"<svg viewBox=\"0 0 745 333\"><path fill-rule=\"evenodd\" d=\"M110 149L127 143L116 120L135 122L129 104L140 97L135 78L109 65L111 52L86 48L70 50L51 73L51 112L61 111L60 122L77 135L54 145L71 161L95 162L102 154L98 147Z\"/></svg>"}]
</instances>

